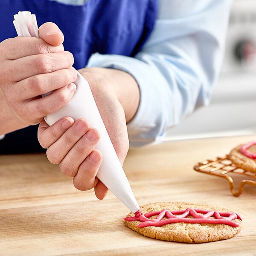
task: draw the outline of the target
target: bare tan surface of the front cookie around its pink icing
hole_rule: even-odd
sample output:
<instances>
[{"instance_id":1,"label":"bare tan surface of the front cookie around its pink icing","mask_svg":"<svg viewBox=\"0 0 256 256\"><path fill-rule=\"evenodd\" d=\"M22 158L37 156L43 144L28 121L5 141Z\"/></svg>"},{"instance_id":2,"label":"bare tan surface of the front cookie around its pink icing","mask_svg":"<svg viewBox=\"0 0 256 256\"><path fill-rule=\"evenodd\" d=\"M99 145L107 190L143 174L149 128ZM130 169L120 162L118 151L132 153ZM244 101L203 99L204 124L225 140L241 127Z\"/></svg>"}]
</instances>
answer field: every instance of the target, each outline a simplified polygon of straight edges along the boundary
<instances>
[{"instance_id":1,"label":"bare tan surface of the front cookie around its pink icing","mask_svg":"<svg viewBox=\"0 0 256 256\"><path fill-rule=\"evenodd\" d=\"M190 204L183 202L158 202L153 204L146 204L140 207L140 211L145 214L152 211L161 211L167 209L169 211L174 210L186 210L187 208L192 209L205 209L215 210L219 212L230 212L227 209L220 207L212 207L206 204ZM127 217L134 216L134 213L128 214ZM126 217L126 218L127 218ZM153 216L152 218L156 218ZM193 218L188 216L188 218ZM211 217L214 218L214 217ZM204 243L211 241L218 241L229 239L239 233L241 229L241 220L236 218L233 220L239 224L238 227L232 227L227 224L198 224L198 223L184 223L177 222L171 224L165 224L160 227L148 226L148 227L137 227L141 224L140 221L127 221L125 225L131 230L140 233L143 236L147 236L153 239L176 241L183 243Z\"/></svg>"}]
</instances>

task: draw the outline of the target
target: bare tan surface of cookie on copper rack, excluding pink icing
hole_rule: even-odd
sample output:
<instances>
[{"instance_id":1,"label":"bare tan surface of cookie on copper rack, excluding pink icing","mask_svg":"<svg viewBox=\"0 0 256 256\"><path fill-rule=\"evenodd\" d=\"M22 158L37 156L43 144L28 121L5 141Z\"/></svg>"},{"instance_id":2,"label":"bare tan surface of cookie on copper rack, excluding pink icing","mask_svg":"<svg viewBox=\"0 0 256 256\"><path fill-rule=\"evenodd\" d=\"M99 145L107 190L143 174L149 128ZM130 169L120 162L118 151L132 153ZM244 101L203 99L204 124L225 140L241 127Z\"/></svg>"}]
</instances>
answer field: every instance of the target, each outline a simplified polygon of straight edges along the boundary
<instances>
[{"instance_id":1,"label":"bare tan surface of cookie on copper rack, excluding pink icing","mask_svg":"<svg viewBox=\"0 0 256 256\"><path fill-rule=\"evenodd\" d=\"M237 146L236 148L233 148L230 151L230 154L228 158L234 163L238 168L243 169L247 172L253 172L256 173L256 159L252 159L250 157L247 157L246 155L241 153L241 147L244 146L244 144ZM250 146L250 148L247 149L248 152L251 152L253 154L256 154L256 145Z\"/></svg>"}]
</instances>

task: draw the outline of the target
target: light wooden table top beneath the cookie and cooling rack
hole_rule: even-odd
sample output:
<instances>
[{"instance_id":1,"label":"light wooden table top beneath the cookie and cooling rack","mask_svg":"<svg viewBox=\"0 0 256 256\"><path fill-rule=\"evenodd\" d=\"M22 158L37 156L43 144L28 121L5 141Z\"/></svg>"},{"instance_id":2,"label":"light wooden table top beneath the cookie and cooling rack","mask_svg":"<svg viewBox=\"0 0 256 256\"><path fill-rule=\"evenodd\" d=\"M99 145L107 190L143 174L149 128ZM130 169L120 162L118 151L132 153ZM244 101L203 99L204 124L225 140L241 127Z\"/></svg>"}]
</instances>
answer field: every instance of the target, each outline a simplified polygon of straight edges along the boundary
<instances>
[{"instance_id":1,"label":"light wooden table top beneath the cookie and cooling rack","mask_svg":"<svg viewBox=\"0 0 256 256\"><path fill-rule=\"evenodd\" d=\"M242 216L232 239L204 244L159 241L128 229L130 212L111 192L73 187L45 154L0 156L0 255L256 255L256 187L231 195L227 180L196 172L255 136L184 140L132 149L124 169L140 205L185 201L226 207Z\"/></svg>"}]
</instances>

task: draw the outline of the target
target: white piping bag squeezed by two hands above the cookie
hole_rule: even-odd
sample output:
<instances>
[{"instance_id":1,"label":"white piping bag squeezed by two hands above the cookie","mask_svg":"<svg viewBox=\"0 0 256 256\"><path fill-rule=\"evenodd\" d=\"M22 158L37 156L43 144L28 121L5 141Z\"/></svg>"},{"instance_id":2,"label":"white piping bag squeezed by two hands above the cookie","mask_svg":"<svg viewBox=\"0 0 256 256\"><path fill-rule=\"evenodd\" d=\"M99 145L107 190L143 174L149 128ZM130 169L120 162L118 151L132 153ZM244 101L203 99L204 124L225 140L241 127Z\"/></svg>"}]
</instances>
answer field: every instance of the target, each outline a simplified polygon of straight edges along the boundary
<instances>
[{"instance_id":1,"label":"white piping bag squeezed by two hands above the cookie","mask_svg":"<svg viewBox=\"0 0 256 256\"><path fill-rule=\"evenodd\" d=\"M19 12L14 15L14 18L13 23L19 36L38 37L38 26L35 15L31 15L30 12ZM90 86L79 72L77 74L78 76L75 81L76 92L73 98L63 108L45 116L44 119L48 125L52 125L64 116L71 116L74 120L79 118L89 120L91 126L98 129L100 133L100 140L96 149L102 152L103 159L97 177L131 212L137 212L140 207L111 143Z\"/></svg>"}]
</instances>

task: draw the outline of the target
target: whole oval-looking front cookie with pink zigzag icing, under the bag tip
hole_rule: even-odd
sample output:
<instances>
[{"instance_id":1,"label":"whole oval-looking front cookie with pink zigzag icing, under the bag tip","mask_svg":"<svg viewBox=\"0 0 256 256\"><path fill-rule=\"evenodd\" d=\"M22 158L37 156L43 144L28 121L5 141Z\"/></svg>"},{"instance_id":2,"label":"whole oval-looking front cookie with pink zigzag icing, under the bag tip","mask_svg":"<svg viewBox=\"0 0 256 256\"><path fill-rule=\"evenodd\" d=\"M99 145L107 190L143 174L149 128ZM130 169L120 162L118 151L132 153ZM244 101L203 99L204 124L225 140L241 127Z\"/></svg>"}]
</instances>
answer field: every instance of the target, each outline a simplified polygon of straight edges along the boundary
<instances>
[{"instance_id":1,"label":"whole oval-looking front cookie with pink zigzag icing, under the bag tip","mask_svg":"<svg viewBox=\"0 0 256 256\"><path fill-rule=\"evenodd\" d=\"M153 239L204 243L229 239L241 230L241 216L220 207L184 202L146 204L125 218L131 230Z\"/></svg>"}]
</instances>

